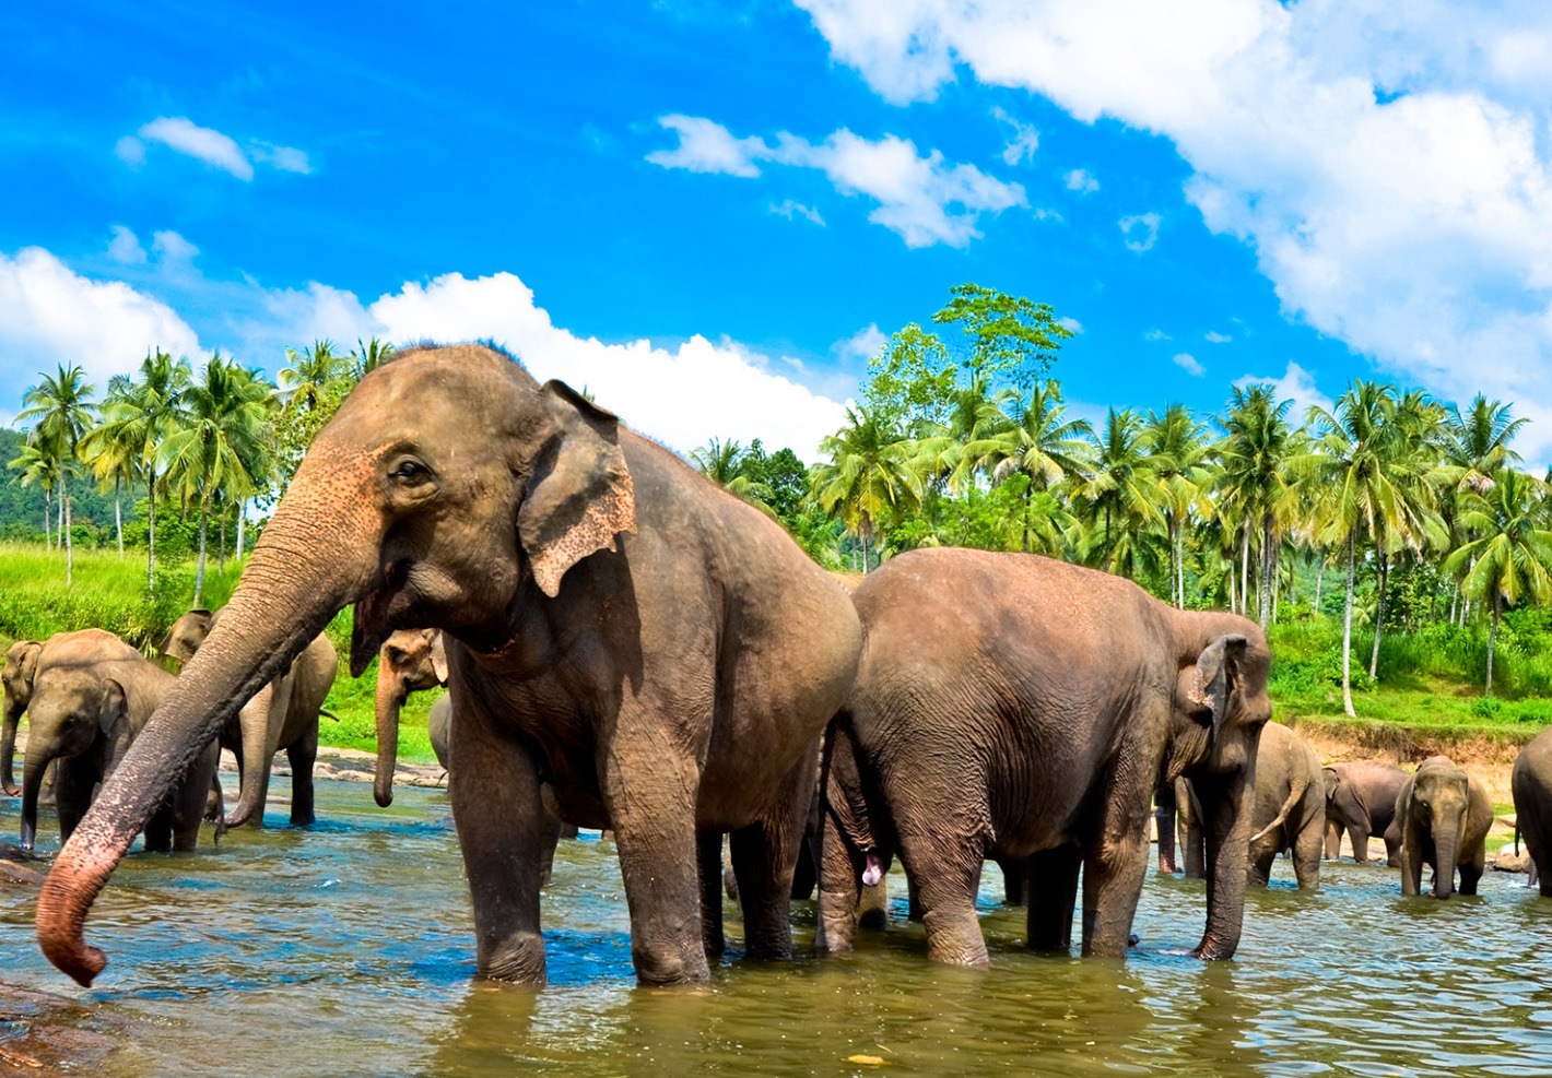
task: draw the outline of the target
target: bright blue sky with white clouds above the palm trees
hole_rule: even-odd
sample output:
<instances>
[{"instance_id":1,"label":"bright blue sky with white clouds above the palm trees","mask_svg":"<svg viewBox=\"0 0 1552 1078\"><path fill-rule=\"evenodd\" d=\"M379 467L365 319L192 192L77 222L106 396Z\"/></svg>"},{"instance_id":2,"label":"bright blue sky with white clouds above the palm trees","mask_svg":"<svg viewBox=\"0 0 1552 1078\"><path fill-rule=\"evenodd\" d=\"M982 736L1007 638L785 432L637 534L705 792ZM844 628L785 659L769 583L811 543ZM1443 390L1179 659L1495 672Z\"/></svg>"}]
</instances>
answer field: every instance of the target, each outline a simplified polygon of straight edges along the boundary
<instances>
[{"instance_id":1,"label":"bright blue sky with white clouds above the palm trees","mask_svg":"<svg viewBox=\"0 0 1552 1078\"><path fill-rule=\"evenodd\" d=\"M813 458L964 281L1083 414L1383 377L1552 458L1552 5L0 8L0 416L147 347L492 338Z\"/></svg>"}]
</instances>

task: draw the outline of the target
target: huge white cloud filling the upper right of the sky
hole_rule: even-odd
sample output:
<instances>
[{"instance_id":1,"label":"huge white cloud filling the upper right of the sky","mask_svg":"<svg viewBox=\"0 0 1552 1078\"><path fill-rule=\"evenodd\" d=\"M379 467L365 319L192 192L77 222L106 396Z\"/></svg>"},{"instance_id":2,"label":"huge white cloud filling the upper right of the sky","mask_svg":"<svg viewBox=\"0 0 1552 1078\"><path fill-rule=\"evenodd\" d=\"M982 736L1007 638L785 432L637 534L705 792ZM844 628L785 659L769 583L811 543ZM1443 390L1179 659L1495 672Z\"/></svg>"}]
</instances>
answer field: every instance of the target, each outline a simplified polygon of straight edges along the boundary
<instances>
[{"instance_id":1,"label":"huge white cloud filling the upper right of the sky","mask_svg":"<svg viewBox=\"0 0 1552 1078\"><path fill-rule=\"evenodd\" d=\"M1290 315L1440 396L1552 417L1552 8L796 2L889 101L967 70L1172 140L1187 200Z\"/></svg>"}]
</instances>

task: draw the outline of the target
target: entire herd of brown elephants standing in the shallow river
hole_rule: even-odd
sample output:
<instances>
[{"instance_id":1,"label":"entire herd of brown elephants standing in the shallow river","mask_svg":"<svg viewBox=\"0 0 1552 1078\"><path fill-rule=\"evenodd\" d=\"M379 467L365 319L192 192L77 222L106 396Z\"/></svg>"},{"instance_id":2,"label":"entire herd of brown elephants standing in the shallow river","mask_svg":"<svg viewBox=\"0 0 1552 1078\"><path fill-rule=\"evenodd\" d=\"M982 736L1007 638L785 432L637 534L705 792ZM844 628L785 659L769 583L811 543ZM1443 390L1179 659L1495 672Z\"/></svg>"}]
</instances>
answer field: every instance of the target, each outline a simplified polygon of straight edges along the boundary
<instances>
[{"instance_id":1,"label":"entire herd of brown elephants standing in the shallow river","mask_svg":"<svg viewBox=\"0 0 1552 1078\"><path fill-rule=\"evenodd\" d=\"M1280 852L1315 887L1341 833L1383 836L1401 892L1474 893L1493 807L1445 757L1322 768L1270 723L1260 628L1024 554L923 549L860 583L560 382L486 346L416 347L318 434L231 602L163 644L178 675L101 630L19 642L3 779L31 847L54 768L64 845L37 903L57 968L92 983L92 903L133 839L192 850L206 817L262 824L270 760L314 821L318 712L354 605L349 669L380 658L374 794L399 709L447 686L431 741L472 895L480 974L545 980L540 889L562 825L608 828L644 983L705 980L723 887L745 954L792 954L818 884L821 952L852 948L900 858L927 957L987 965L986 859L1027 943L1124 957L1158 817L1161 869L1204 876L1192 954L1228 959ZM16 723L28 713L23 782ZM220 803L219 749L239 760ZM1552 858L1552 740L1519 755L1530 858ZM1330 844L1335 836L1336 844ZM726 839L726 855L725 855ZM327 841L320 833L315 841ZM197 861L189 861L197 872ZM1541 893L1552 884L1541 876Z\"/></svg>"}]
</instances>

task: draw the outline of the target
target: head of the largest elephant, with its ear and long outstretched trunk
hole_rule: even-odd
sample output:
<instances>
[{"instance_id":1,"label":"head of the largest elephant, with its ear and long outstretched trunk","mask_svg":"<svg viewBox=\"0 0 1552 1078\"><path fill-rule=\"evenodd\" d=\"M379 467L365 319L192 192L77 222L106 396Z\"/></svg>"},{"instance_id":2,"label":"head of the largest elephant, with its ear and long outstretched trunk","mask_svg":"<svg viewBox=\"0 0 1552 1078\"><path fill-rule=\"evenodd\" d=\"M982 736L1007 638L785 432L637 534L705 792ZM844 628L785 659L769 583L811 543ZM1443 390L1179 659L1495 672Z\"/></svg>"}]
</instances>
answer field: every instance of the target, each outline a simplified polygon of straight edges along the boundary
<instances>
[{"instance_id":1,"label":"head of the largest elephant, with its ear and long outstretched trunk","mask_svg":"<svg viewBox=\"0 0 1552 1078\"><path fill-rule=\"evenodd\" d=\"M189 661L81 828L37 906L50 962L90 983L106 957L87 910L152 807L261 686L355 603L351 673L396 628L481 648L565 572L635 530L615 416L473 344L416 347L368 374L318 434Z\"/></svg>"}]
</instances>

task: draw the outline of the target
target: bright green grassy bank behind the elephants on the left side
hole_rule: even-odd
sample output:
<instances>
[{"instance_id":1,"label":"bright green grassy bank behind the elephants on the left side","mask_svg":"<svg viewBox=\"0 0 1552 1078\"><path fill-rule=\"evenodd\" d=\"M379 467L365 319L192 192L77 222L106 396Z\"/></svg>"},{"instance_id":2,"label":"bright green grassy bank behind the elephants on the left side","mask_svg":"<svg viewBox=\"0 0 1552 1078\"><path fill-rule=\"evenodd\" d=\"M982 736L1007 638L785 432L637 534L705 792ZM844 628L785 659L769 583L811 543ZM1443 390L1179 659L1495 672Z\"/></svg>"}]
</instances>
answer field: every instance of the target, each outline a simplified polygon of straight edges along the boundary
<instances>
[{"instance_id":1,"label":"bright green grassy bank behind the elephants on the left side","mask_svg":"<svg viewBox=\"0 0 1552 1078\"><path fill-rule=\"evenodd\" d=\"M146 588L146 552L76 551L74 583L65 585L64 552L36 544L0 544L0 647L11 641L47 641L54 633L98 627L124 637L144 655L155 658L168 628L194 599L192 560L158 558L155 593ZM237 585L239 569L227 565L217 572L206 566L203 605L222 606ZM329 639L340 651L340 676L334 682L318 724L323 745L377 749L372 693L377 686L374 658L359 679L349 676L351 611L341 611L329 625ZM431 763L431 741L425 718L438 693L416 693L400 715L399 758Z\"/></svg>"}]
</instances>

